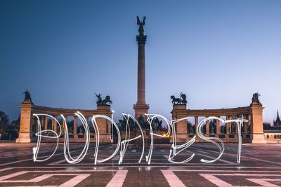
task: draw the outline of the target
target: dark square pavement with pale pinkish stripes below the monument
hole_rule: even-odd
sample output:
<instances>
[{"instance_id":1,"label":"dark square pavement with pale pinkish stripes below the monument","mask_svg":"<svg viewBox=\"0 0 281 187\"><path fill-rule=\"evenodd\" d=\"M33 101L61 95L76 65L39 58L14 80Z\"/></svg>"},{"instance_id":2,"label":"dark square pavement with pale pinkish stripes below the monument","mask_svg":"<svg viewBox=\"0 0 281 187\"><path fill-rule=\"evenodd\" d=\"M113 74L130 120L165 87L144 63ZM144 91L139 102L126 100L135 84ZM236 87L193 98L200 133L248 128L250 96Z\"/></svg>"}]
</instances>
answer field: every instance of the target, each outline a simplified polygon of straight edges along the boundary
<instances>
[{"instance_id":1,"label":"dark square pavement with pale pinkish stripes below the monument","mask_svg":"<svg viewBox=\"0 0 281 187\"><path fill-rule=\"evenodd\" d=\"M84 160L68 164L63 144L55 155L44 162L33 162L35 144L0 144L0 186L281 186L281 144L242 144L241 163L237 164L237 144L226 144L226 151L217 162L218 150L213 144L195 143L176 156L187 163L167 160L169 146L155 146L151 165L141 163L141 146L129 146L122 164L119 155L107 162L93 163L94 144ZM70 144L71 153L79 155L83 144ZM51 155L55 144L42 144L39 159ZM148 154L145 147L145 155ZM98 159L110 156L115 147L101 145Z\"/></svg>"}]
</instances>

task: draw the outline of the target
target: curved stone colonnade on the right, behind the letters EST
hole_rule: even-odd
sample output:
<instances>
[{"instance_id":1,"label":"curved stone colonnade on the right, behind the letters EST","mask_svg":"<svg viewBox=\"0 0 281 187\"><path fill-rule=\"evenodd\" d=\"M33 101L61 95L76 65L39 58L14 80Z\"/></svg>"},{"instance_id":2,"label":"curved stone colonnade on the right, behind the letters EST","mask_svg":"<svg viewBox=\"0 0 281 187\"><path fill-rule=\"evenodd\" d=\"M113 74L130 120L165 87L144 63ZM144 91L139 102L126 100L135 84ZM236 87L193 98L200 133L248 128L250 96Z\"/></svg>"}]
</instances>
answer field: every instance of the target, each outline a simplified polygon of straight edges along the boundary
<instances>
[{"instance_id":1,"label":"curved stone colonnade on the right, behind the letters EST","mask_svg":"<svg viewBox=\"0 0 281 187\"><path fill-rule=\"evenodd\" d=\"M223 120L231 120L237 118L244 118L248 122L244 122L244 127L241 128L241 137L244 143L266 143L263 136L263 106L260 103L252 102L249 106L237 107L231 109L202 109L191 110L187 109L185 104L178 104L173 106L171 111L172 118L181 119L188 117L187 120L181 120L176 123L176 138L177 141L188 141L195 134L195 129L201 120L211 116L222 118ZM195 124L188 125L188 121L194 119ZM212 130L210 123L214 123ZM221 130L221 128L226 130ZM192 128L192 129L190 129ZM224 142L236 143L238 141L238 128L235 123L222 124L220 120L215 119L213 122L207 120L202 130L206 137L218 137L223 139ZM197 139L197 141L202 141Z\"/></svg>"}]
</instances>

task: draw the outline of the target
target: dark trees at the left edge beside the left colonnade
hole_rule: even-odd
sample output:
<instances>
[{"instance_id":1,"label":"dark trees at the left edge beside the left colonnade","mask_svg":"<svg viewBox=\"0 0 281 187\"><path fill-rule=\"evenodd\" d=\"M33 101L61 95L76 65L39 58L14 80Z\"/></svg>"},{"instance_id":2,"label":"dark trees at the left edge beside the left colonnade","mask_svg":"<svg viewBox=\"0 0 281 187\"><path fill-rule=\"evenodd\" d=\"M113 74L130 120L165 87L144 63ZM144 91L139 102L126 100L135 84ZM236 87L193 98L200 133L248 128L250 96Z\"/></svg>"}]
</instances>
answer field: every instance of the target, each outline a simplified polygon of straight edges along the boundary
<instances>
[{"instance_id":1,"label":"dark trees at the left edge beside the left colonnade","mask_svg":"<svg viewBox=\"0 0 281 187\"><path fill-rule=\"evenodd\" d=\"M10 120L5 112L0 111L0 140L15 140L20 130L20 116L18 119Z\"/></svg>"}]
</instances>

